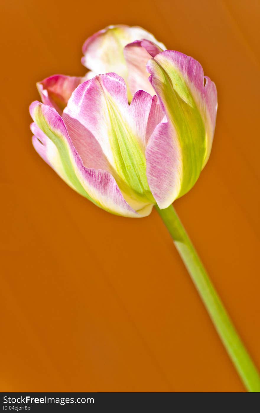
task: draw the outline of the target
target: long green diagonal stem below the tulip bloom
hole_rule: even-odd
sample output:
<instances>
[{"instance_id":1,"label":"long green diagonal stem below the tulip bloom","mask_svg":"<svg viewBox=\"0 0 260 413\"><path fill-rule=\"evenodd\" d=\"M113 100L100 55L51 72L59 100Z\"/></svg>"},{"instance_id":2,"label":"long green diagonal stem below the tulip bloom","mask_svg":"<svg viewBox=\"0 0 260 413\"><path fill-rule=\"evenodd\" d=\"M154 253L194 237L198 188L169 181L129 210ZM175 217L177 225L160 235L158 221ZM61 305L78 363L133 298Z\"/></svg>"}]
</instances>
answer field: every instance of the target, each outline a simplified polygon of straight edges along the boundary
<instances>
[{"instance_id":1,"label":"long green diagonal stem below the tulip bloom","mask_svg":"<svg viewBox=\"0 0 260 413\"><path fill-rule=\"evenodd\" d=\"M159 209L159 207L156 207L156 209L171 234L173 242L246 389L249 392L260 392L258 371L208 278L206 270L176 211L172 205L166 209Z\"/></svg>"}]
</instances>

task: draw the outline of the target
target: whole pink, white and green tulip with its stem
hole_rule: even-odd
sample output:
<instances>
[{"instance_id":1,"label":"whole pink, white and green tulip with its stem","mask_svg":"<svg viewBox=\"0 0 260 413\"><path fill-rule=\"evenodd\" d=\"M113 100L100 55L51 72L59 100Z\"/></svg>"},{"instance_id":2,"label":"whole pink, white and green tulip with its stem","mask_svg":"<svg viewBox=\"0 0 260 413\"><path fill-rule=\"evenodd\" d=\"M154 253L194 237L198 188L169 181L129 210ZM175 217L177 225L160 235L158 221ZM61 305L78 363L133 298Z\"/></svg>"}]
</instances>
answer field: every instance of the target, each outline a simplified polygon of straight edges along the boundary
<instances>
[{"instance_id":1,"label":"whole pink, white and green tulip with its stem","mask_svg":"<svg viewBox=\"0 0 260 413\"><path fill-rule=\"evenodd\" d=\"M140 27L108 26L83 45L82 77L37 83L33 146L75 191L126 217L156 207L223 344L250 391L258 373L172 203L196 183L211 152L217 91L201 64Z\"/></svg>"}]
</instances>

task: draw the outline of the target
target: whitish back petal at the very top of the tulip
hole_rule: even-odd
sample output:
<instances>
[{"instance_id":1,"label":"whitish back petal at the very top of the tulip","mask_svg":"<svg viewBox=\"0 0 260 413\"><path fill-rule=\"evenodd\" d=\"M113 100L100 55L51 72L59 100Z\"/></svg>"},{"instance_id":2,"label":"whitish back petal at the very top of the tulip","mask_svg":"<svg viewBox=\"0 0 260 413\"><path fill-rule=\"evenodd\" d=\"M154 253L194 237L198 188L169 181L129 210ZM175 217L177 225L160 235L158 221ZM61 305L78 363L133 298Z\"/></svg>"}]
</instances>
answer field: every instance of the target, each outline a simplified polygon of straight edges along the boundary
<instances>
[{"instance_id":1,"label":"whitish back petal at the very top of the tulip","mask_svg":"<svg viewBox=\"0 0 260 413\"><path fill-rule=\"evenodd\" d=\"M158 42L151 33L141 27L108 26L85 41L82 47L84 53L82 64L94 74L115 72L127 81L123 50L128 43L141 39L150 40L162 50L166 49L163 43Z\"/></svg>"}]
</instances>

